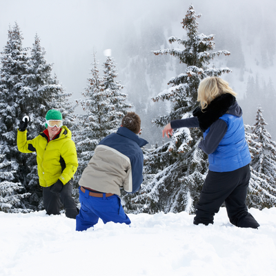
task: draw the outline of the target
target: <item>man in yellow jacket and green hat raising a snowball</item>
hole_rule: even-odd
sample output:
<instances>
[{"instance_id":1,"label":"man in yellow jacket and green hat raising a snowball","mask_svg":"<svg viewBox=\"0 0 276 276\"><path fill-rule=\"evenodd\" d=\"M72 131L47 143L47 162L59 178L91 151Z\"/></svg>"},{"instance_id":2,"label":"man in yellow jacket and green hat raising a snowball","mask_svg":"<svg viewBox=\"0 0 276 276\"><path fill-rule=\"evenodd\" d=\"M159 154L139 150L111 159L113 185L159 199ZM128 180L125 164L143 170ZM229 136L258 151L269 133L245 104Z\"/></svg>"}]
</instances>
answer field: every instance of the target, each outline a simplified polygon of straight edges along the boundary
<instances>
[{"instance_id":1,"label":"man in yellow jacket and green hat raising a snowball","mask_svg":"<svg viewBox=\"0 0 276 276\"><path fill-rule=\"evenodd\" d=\"M72 198L72 177L78 161L71 131L62 126L59 110L49 110L46 130L27 140L28 117L23 117L17 130L17 147L20 152L37 152L39 184L43 190L43 205L48 215L59 215L61 203L66 217L75 219L79 213Z\"/></svg>"}]
</instances>

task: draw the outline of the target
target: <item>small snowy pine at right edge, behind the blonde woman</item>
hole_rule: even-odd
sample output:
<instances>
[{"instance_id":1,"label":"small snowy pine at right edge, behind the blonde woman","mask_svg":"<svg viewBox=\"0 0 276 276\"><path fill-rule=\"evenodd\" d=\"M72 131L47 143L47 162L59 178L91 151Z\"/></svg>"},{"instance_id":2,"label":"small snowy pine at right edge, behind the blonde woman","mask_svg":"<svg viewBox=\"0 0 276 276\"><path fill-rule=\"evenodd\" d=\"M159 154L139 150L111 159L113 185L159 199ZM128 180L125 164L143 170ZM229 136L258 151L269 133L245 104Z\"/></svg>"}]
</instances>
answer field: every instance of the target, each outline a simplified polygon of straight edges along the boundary
<instances>
[{"instance_id":1,"label":"small snowy pine at right edge, behind the blonde woman","mask_svg":"<svg viewBox=\"0 0 276 276\"><path fill-rule=\"evenodd\" d=\"M256 123L246 127L246 139L252 161L248 206L270 208L276 206L276 142L265 128L262 109L257 109Z\"/></svg>"}]
</instances>

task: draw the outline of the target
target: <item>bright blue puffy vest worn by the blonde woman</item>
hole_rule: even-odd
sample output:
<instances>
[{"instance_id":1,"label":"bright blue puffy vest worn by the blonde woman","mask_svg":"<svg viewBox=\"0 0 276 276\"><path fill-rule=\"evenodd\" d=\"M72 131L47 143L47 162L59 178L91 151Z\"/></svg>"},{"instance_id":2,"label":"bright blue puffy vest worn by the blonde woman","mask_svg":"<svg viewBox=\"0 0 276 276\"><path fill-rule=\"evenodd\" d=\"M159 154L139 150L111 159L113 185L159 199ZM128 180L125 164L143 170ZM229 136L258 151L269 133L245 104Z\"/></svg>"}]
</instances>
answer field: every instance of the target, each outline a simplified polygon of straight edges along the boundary
<instances>
[{"instance_id":1,"label":"bright blue puffy vest worn by the blonde woman","mask_svg":"<svg viewBox=\"0 0 276 276\"><path fill-rule=\"evenodd\" d=\"M242 117L225 114L219 119L226 122L228 128L215 152L208 155L209 170L230 172L250 163L251 157L244 134ZM210 128L204 132L204 139Z\"/></svg>"}]
</instances>

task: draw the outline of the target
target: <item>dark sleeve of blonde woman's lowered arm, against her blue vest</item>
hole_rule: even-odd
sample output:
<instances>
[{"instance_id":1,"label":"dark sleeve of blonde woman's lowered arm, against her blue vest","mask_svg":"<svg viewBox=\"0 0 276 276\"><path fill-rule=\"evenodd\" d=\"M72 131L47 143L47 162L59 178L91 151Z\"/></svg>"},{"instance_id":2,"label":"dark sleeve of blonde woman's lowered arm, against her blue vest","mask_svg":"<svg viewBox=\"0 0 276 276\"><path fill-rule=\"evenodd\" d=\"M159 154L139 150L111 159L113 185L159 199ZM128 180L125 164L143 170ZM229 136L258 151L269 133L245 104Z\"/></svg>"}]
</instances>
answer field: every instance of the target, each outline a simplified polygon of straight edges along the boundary
<instances>
[{"instance_id":1,"label":"dark sleeve of blonde woman's lowered arm, against her blue vest","mask_svg":"<svg viewBox=\"0 0 276 276\"><path fill-rule=\"evenodd\" d=\"M206 135L205 139L199 142L199 148L206 152L208 155L213 153L221 139L224 137L227 131L227 124L224 120L218 119L210 126L210 131Z\"/></svg>"}]
</instances>

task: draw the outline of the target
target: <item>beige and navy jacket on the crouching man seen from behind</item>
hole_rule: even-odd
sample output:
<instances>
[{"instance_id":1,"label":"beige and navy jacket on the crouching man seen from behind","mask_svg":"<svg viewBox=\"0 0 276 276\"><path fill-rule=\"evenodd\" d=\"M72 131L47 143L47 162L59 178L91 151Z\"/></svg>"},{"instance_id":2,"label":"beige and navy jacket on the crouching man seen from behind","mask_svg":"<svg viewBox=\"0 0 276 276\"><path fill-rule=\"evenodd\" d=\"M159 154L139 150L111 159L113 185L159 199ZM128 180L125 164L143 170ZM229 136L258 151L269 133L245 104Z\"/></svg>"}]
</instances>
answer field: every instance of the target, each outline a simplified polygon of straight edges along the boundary
<instances>
[{"instance_id":1,"label":"beige and navy jacket on the crouching man seen from behind","mask_svg":"<svg viewBox=\"0 0 276 276\"><path fill-rule=\"evenodd\" d=\"M101 140L88 166L83 170L79 186L101 193L120 195L139 190L143 181L144 156L141 146L148 142L121 127Z\"/></svg>"}]
</instances>

